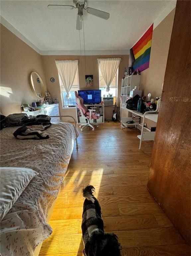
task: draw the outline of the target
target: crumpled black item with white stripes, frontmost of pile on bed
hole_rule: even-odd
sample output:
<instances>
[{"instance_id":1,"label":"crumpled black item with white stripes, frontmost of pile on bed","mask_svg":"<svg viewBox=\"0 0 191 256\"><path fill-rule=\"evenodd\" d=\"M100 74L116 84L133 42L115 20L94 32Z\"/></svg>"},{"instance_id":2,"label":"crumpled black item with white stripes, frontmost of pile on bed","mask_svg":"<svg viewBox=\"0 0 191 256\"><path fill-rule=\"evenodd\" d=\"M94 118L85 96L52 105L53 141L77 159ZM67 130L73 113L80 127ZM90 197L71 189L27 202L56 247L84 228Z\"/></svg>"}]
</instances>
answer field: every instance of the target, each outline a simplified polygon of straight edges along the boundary
<instances>
[{"instance_id":1,"label":"crumpled black item with white stripes, frontmost of pile on bed","mask_svg":"<svg viewBox=\"0 0 191 256\"><path fill-rule=\"evenodd\" d=\"M41 134L45 131L51 124L46 126L43 125L33 125L33 126L22 126L19 127L14 133L14 137L17 139L32 139L32 140L46 140L49 136L42 136Z\"/></svg>"}]
</instances>

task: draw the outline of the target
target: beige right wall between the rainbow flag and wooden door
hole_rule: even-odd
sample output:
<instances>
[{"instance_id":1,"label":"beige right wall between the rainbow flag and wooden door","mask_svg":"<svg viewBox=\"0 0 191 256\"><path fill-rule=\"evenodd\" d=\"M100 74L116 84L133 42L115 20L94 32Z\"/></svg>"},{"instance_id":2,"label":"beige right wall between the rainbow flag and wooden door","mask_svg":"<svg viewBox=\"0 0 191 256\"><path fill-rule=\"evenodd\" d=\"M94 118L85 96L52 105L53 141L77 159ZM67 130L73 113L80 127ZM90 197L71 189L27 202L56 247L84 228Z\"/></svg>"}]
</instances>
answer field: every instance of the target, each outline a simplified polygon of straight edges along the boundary
<instances>
[{"instance_id":1,"label":"beige right wall between the rainbow flag and wooden door","mask_svg":"<svg viewBox=\"0 0 191 256\"><path fill-rule=\"evenodd\" d=\"M149 68L141 73L143 95L151 93L151 98L159 97L166 69L175 9L153 30Z\"/></svg>"}]
</instances>

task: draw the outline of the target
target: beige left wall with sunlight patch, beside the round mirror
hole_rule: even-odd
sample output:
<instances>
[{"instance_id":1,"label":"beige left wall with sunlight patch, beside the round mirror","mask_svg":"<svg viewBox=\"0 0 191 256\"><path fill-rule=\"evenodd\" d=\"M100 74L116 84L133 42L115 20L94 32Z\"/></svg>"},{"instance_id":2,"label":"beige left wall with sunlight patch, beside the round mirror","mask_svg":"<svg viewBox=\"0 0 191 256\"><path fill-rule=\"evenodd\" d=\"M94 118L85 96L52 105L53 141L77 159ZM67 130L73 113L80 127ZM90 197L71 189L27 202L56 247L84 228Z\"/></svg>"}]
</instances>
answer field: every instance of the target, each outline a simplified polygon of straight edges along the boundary
<instances>
[{"instance_id":1,"label":"beige left wall with sunlight patch, beside the round mirror","mask_svg":"<svg viewBox=\"0 0 191 256\"><path fill-rule=\"evenodd\" d=\"M41 55L15 36L3 25L1 29L1 113L21 112L21 104L37 99L29 84L32 71L45 81Z\"/></svg>"}]
</instances>

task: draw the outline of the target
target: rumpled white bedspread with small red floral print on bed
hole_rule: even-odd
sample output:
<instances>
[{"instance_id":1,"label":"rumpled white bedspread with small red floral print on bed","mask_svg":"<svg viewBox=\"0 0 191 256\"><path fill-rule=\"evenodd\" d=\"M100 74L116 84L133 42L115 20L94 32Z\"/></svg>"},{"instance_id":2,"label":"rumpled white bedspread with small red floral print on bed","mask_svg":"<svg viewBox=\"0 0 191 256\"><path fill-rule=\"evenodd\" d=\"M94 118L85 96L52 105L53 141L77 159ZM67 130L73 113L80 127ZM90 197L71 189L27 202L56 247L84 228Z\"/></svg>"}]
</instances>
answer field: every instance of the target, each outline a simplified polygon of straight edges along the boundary
<instances>
[{"instance_id":1,"label":"rumpled white bedspread with small red floral print on bed","mask_svg":"<svg viewBox=\"0 0 191 256\"><path fill-rule=\"evenodd\" d=\"M18 127L1 132L2 167L26 167L39 173L1 222L2 256L30 256L51 233L48 210L57 197L78 136L70 123L53 123L44 134L47 140L19 140ZM7 174L9 175L9 174Z\"/></svg>"}]
</instances>

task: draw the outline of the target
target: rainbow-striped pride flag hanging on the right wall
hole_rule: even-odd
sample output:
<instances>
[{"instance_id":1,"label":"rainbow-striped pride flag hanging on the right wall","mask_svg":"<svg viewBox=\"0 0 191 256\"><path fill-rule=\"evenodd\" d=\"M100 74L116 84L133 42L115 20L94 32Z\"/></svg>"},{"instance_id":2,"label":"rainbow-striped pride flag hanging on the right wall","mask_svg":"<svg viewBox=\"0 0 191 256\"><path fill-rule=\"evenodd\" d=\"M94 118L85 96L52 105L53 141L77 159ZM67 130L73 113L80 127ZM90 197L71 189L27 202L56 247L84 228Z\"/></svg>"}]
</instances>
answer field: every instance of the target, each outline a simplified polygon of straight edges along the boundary
<instances>
[{"instance_id":1,"label":"rainbow-striped pride flag hanging on the right wall","mask_svg":"<svg viewBox=\"0 0 191 256\"><path fill-rule=\"evenodd\" d=\"M149 67L152 31L153 24L144 33L141 39L139 39L139 41L130 49L133 71L139 70L142 72Z\"/></svg>"}]
</instances>

